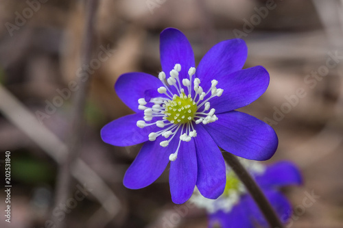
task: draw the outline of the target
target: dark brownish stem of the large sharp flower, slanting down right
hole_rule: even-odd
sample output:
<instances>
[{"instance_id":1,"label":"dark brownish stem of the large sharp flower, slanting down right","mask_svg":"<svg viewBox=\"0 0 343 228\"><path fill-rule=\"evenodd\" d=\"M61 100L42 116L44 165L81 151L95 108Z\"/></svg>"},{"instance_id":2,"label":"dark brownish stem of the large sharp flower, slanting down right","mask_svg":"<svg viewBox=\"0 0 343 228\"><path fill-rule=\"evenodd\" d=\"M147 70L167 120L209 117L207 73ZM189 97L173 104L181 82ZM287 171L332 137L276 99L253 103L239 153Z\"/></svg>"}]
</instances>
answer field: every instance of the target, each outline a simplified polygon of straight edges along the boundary
<instances>
[{"instance_id":1,"label":"dark brownish stem of the large sharp flower, slanting down right","mask_svg":"<svg viewBox=\"0 0 343 228\"><path fill-rule=\"evenodd\" d=\"M236 173L237 177L244 183L246 189L250 192L252 199L255 200L259 209L261 210L262 214L265 216L265 219L268 221L270 227L272 228L283 228L283 224L281 223L279 216L277 216L276 212L270 205L267 198L263 194L261 188L257 185L254 179L250 176L246 168L241 165L237 157L231 153L220 149L223 153L224 160L228 163L228 165L233 169Z\"/></svg>"}]
</instances>

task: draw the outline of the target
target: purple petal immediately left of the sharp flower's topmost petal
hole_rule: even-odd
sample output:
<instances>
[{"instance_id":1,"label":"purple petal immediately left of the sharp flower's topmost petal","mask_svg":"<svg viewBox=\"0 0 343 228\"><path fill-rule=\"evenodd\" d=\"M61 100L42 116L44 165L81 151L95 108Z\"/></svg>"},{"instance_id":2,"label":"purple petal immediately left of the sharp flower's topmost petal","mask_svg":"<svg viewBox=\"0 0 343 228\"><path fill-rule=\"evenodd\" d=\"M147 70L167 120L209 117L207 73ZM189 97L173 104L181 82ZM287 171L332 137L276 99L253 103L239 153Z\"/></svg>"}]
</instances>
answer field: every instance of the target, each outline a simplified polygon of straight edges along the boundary
<instances>
[{"instance_id":1,"label":"purple petal immediately left of the sharp flower's topmost petal","mask_svg":"<svg viewBox=\"0 0 343 228\"><path fill-rule=\"evenodd\" d=\"M120 75L115 83L115 92L118 97L134 112L142 112L138 109L138 99L145 97L145 90L156 90L163 86L161 81L146 73L126 73Z\"/></svg>"}]
</instances>

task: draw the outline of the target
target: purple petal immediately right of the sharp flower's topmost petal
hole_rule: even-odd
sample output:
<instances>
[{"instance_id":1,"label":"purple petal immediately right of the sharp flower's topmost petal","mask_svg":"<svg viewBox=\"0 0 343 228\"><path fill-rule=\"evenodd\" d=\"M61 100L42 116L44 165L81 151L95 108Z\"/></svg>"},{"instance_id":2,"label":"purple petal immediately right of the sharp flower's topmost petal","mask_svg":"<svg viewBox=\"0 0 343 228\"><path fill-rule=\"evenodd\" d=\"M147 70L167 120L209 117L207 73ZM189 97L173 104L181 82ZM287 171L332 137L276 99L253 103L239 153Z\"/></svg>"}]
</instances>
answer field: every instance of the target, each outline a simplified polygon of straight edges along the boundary
<instances>
[{"instance_id":1,"label":"purple petal immediately right of the sharp flower's topmost petal","mask_svg":"<svg viewBox=\"0 0 343 228\"><path fill-rule=\"evenodd\" d=\"M244 40L233 39L219 42L204 55L196 69L196 77L201 81L200 86L207 84L211 86L211 80L241 70L247 56L248 48Z\"/></svg>"}]
</instances>

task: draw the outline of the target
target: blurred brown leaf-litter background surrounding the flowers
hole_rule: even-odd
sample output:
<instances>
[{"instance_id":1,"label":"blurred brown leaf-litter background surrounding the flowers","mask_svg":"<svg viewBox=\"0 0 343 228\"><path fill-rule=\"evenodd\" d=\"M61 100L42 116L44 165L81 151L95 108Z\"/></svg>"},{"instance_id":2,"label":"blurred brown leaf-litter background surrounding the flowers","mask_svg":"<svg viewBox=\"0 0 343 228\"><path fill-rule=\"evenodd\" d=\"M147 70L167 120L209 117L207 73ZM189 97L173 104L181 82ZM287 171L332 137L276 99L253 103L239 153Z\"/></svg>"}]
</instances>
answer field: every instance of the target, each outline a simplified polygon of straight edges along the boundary
<instances>
[{"instance_id":1,"label":"blurred brown leaf-litter background surrounding the flowers","mask_svg":"<svg viewBox=\"0 0 343 228\"><path fill-rule=\"evenodd\" d=\"M101 0L88 66L80 66L84 1L1 0L0 12L0 175L10 151L12 183L6 223L1 181L0 227L53 227L51 211L67 227L206 227L203 210L184 213L171 202L167 170L147 188L126 189L123 175L140 146L113 147L99 134L131 113L113 90L119 75L161 71L166 27L185 33L196 62L217 42L246 40L244 68L267 68L270 86L241 111L279 136L264 163L291 160L305 179L283 190L294 205L287 227L343 227L343 1ZM68 207L54 208L80 75L91 78L82 149ZM307 194L320 198L304 205Z\"/></svg>"}]
</instances>

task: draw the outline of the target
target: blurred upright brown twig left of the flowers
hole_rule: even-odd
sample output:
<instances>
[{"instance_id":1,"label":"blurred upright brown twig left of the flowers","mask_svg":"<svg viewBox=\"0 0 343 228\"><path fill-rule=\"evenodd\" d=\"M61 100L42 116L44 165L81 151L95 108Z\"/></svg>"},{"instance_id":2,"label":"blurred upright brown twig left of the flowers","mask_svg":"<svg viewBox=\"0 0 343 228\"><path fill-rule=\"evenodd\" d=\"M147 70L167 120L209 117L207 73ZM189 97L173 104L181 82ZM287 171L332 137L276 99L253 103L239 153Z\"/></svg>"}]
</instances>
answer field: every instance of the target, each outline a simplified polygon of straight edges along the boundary
<instances>
[{"instance_id":1,"label":"blurred upright brown twig left of the flowers","mask_svg":"<svg viewBox=\"0 0 343 228\"><path fill-rule=\"evenodd\" d=\"M89 64L92 58L93 42L94 42L94 22L95 14L97 11L97 0L86 1L86 26L84 40L82 42L82 52L81 52L81 66ZM70 137L67 142L67 158L60 166L58 173L58 179L56 184L56 199L55 206L60 205L60 203L65 203L69 196L70 186L71 186L71 166L75 162L75 158L78 157L78 151L80 150L82 129L84 125L84 106L86 103L86 94L88 90L90 79L82 81L79 78L80 88L75 94L75 102L72 110L72 121L71 129L69 131ZM56 228L64 227L64 219L58 220L54 219Z\"/></svg>"}]
</instances>

